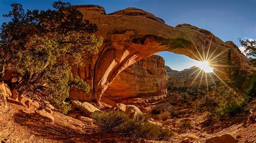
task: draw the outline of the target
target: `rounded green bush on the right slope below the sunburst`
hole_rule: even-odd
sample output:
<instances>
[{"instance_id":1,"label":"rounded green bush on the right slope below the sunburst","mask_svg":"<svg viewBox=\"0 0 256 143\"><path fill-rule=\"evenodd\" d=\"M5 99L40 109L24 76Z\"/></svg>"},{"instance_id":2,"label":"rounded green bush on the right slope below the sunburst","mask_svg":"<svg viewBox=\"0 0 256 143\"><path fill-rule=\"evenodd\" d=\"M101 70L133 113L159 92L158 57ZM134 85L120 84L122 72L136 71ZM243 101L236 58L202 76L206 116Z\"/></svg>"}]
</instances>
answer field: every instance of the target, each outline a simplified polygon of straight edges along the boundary
<instances>
[{"instance_id":1,"label":"rounded green bush on the right slope below the sunburst","mask_svg":"<svg viewBox=\"0 0 256 143\"><path fill-rule=\"evenodd\" d=\"M243 111L248 97L225 84L220 84L210 94L199 98L194 109L199 112L208 111L222 119L234 117Z\"/></svg>"}]
</instances>

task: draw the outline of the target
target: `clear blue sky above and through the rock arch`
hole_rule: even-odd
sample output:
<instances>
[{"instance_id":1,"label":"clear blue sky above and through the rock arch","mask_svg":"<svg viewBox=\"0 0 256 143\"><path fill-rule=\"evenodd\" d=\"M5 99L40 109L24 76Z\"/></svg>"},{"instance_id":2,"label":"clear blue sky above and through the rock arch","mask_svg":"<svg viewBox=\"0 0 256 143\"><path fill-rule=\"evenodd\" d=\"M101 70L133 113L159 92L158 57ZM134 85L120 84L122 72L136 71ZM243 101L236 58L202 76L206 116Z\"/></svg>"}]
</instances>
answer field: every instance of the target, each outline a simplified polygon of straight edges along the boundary
<instances>
[{"instance_id":1,"label":"clear blue sky above and through the rock arch","mask_svg":"<svg viewBox=\"0 0 256 143\"><path fill-rule=\"evenodd\" d=\"M0 14L8 13L11 3L21 3L24 9L46 10L52 8L54 0L0 0ZM63 0L72 5L96 4L106 13L127 7L151 12L171 26L188 23L211 31L223 41L231 40L239 47L238 38L256 39L256 0ZM0 17L0 24L6 22ZM183 70L195 66L196 62L184 55L161 52L165 65Z\"/></svg>"}]
</instances>

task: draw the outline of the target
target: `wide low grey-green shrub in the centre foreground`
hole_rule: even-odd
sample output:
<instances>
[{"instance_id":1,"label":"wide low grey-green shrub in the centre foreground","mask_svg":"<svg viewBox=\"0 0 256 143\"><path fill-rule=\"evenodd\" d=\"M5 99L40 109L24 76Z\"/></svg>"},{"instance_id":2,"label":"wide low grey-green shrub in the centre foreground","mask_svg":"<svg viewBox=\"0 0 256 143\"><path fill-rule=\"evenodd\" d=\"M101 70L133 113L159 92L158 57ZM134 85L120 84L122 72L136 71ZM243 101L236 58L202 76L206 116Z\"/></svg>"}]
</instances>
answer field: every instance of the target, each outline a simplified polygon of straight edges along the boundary
<instances>
[{"instance_id":1,"label":"wide low grey-green shrub in the centre foreground","mask_svg":"<svg viewBox=\"0 0 256 143\"><path fill-rule=\"evenodd\" d=\"M140 138L167 139L172 132L147 122L148 117L138 115L130 118L123 112L95 112L91 115L95 123L107 132L129 134Z\"/></svg>"}]
</instances>

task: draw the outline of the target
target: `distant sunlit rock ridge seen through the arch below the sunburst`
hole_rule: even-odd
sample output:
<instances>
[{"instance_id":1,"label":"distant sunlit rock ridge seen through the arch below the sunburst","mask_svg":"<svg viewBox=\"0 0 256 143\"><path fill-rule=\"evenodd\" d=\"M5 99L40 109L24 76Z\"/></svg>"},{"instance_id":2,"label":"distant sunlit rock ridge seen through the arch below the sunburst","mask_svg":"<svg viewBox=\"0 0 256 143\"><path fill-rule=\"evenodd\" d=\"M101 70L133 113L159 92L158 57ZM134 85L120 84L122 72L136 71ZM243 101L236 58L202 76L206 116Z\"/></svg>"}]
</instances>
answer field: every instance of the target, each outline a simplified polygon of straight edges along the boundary
<instances>
[{"instance_id":1,"label":"distant sunlit rock ridge seen through the arch below the sunburst","mask_svg":"<svg viewBox=\"0 0 256 143\"><path fill-rule=\"evenodd\" d=\"M182 71L172 70L165 66L168 82L167 86L171 87L200 87L206 85L214 85L220 82L219 78L214 73L205 73L200 71L198 67L191 67ZM200 74L198 75L198 73Z\"/></svg>"}]
</instances>

